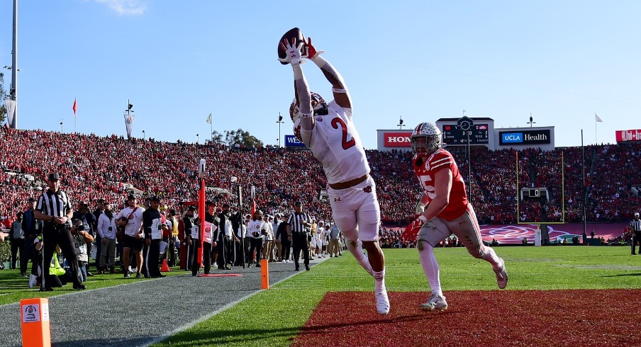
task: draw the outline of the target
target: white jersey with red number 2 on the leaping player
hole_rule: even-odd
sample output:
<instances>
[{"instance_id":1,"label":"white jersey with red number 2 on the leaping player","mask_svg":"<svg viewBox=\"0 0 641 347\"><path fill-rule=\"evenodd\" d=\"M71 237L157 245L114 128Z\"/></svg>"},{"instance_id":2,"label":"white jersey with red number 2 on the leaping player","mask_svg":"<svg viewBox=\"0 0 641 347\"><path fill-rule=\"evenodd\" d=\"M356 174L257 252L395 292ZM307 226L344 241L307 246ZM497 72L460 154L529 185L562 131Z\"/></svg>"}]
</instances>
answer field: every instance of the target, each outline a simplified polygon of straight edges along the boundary
<instances>
[{"instance_id":1,"label":"white jersey with red number 2 on the leaping player","mask_svg":"<svg viewBox=\"0 0 641 347\"><path fill-rule=\"evenodd\" d=\"M335 101L327 108L328 115L313 115L314 128L306 144L323 164L327 181L340 183L369 174L365 150L352 123L352 109Z\"/></svg>"}]
</instances>

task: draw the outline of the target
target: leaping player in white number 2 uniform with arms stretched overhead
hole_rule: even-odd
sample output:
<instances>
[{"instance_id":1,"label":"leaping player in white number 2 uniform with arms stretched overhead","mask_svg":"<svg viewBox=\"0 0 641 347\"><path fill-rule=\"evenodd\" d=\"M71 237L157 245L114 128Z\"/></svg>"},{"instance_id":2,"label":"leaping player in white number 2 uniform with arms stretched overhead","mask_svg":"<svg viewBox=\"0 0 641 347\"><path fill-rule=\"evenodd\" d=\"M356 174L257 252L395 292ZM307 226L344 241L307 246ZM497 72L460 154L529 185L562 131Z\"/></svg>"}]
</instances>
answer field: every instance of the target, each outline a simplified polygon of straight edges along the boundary
<instances>
[{"instance_id":1,"label":"leaping player in white number 2 uniform with arms stretched overhead","mask_svg":"<svg viewBox=\"0 0 641 347\"><path fill-rule=\"evenodd\" d=\"M385 258L378 242L381 219L376 183L369 176L367 157L352 123L350 94L342 76L321 57L322 51L316 51L311 38L304 45L304 56L301 55L302 42L293 47L284 40L281 45L286 57L279 60L289 63L294 70L296 98L289 108L294 134L323 164L334 220L348 240L347 248L374 276L377 311L387 314L389 299L385 288ZM332 84L334 100L330 103L309 90L301 68L303 58L316 64ZM363 248L367 249L367 255Z\"/></svg>"}]
</instances>

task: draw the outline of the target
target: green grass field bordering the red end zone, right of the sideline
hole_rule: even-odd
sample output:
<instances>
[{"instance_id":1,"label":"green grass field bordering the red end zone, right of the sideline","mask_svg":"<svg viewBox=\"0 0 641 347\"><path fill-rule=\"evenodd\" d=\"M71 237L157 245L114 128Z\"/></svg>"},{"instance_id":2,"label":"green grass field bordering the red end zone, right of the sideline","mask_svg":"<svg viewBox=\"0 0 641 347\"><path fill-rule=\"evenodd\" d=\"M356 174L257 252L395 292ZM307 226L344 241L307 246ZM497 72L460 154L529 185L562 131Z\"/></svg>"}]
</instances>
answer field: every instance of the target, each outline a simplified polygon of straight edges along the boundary
<instances>
[{"instance_id":1,"label":"green grass field bordering the red end zone, right of the sideline","mask_svg":"<svg viewBox=\"0 0 641 347\"><path fill-rule=\"evenodd\" d=\"M506 260L508 290L641 288L641 256L630 256L628 247L497 247L496 252ZM489 263L472 258L465 249L436 249L435 254L446 293L497 290ZM388 249L385 255L389 291L428 290L416 249ZM373 287L372 278L345 254L154 346L289 346L325 292Z\"/></svg>"}]
</instances>

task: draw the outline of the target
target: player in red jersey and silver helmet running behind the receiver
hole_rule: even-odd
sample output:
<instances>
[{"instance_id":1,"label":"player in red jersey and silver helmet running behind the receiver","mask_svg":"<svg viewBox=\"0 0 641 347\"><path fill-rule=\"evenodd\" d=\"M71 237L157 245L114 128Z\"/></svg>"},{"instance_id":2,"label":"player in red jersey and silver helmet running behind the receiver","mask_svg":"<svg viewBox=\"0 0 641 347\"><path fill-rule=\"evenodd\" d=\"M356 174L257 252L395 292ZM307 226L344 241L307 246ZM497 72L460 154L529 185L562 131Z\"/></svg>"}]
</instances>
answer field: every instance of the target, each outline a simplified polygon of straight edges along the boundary
<instances>
[{"instance_id":1,"label":"player in red jersey and silver helmet running behind the receiver","mask_svg":"<svg viewBox=\"0 0 641 347\"><path fill-rule=\"evenodd\" d=\"M420 123L412 132L412 164L423 188L414 225L418 231L418 255L432 293L420 309L433 311L447 309L447 301L440 287L439 266L433 253L434 246L450 234L455 234L474 258L492 264L498 288L508 285L505 263L494 249L484 246L474 208L467 200L465 183L450 152L441 148L441 132L433 123ZM427 208L425 208L427 206Z\"/></svg>"}]
</instances>

